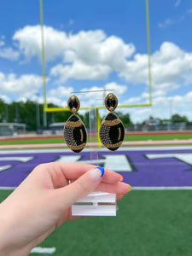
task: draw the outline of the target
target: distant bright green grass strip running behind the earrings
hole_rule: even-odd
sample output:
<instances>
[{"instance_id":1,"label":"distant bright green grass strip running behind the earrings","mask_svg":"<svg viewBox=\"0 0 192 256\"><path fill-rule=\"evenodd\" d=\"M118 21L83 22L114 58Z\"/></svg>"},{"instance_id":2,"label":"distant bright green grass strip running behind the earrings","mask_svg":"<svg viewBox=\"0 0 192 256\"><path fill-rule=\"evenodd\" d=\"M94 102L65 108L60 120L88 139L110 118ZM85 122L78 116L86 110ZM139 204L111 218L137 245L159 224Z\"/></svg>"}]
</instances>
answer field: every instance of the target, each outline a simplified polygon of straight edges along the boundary
<instances>
[{"instance_id":1,"label":"distant bright green grass strip running behind the earrings","mask_svg":"<svg viewBox=\"0 0 192 256\"><path fill-rule=\"evenodd\" d=\"M137 135L125 136L125 141L145 141L145 140L173 140L173 139L190 139L192 134L165 134L165 135ZM90 138L88 137L88 142ZM91 142L96 142L97 138L91 138ZM39 138L30 140L10 140L0 141L0 145L15 145L15 144L39 144L39 143L63 143L64 139L61 138Z\"/></svg>"}]
</instances>

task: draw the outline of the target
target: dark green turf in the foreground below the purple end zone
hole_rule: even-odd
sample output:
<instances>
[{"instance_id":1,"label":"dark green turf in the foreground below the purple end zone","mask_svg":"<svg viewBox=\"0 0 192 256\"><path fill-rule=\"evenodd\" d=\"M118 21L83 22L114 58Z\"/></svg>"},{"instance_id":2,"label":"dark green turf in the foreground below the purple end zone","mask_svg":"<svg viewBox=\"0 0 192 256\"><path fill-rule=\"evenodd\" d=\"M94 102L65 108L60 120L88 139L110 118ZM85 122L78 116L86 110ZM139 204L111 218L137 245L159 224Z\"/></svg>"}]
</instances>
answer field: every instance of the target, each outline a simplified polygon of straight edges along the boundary
<instances>
[{"instance_id":1,"label":"dark green turf in the foreground below the purple end zone","mask_svg":"<svg viewBox=\"0 0 192 256\"><path fill-rule=\"evenodd\" d=\"M8 194L1 190L1 200ZM63 224L41 246L56 247L56 256L191 256L191 195L191 190L133 190L119 201L116 218Z\"/></svg>"}]
</instances>

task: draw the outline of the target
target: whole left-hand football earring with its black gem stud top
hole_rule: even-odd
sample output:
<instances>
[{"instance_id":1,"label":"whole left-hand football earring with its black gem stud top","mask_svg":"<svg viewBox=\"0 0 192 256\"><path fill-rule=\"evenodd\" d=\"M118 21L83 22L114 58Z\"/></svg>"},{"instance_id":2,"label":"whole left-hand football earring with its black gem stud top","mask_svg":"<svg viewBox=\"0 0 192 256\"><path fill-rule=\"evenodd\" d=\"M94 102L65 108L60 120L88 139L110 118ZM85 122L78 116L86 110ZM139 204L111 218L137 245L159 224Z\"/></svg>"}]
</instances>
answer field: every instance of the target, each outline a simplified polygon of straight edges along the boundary
<instances>
[{"instance_id":1,"label":"whole left-hand football earring with its black gem stud top","mask_svg":"<svg viewBox=\"0 0 192 256\"><path fill-rule=\"evenodd\" d=\"M79 98L74 95L69 97L67 106L73 114L67 119L64 138L68 148L72 149L74 153L80 153L87 142L87 131L82 120L75 114L80 108Z\"/></svg>"}]
</instances>

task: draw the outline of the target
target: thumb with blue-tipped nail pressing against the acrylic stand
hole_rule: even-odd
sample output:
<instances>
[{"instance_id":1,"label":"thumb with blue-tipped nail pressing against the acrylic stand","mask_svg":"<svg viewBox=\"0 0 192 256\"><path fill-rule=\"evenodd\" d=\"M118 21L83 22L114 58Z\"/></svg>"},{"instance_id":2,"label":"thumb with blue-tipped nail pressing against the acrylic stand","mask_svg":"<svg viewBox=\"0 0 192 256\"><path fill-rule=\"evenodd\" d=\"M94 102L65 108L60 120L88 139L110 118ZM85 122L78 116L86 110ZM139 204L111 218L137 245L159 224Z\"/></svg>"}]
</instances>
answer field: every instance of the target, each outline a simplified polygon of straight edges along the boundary
<instances>
[{"instance_id":1,"label":"thumb with blue-tipped nail pressing against the acrylic stand","mask_svg":"<svg viewBox=\"0 0 192 256\"><path fill-rule=\"evenodd\" d=\"M71 207L74 202L94 191L98 184L101 183L104 172L105 169L102 166L97 166L84 173L84 175L79 177L75 182L59 189L65 210Z\"/></svg>"}]
</instances>

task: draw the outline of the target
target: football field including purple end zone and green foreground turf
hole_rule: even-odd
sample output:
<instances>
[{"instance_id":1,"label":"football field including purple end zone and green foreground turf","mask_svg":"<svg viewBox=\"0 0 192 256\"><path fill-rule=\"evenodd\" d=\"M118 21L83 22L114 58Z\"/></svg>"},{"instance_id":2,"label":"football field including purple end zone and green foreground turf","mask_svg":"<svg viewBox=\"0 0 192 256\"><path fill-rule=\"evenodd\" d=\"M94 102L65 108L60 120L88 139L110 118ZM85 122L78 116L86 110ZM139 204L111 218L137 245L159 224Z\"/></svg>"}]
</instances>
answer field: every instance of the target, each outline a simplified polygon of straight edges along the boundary
<instances>
[{"instance_id":1,"label":"football field including purple end zone and green foreground turf","mask_svg":"<svg viewBox=\"0 0 192 256\"><path fill-rule=\"evenodd\" d=\"M192 146L101 148L96 156L92 163L119 172L133 187L118 202L117 217L63 224L37 253L48 248L44 255L192 255ZM0 151L0 200L35 166L50 161L90 163L90 151Z\"/></svg>"}]
</instances>

